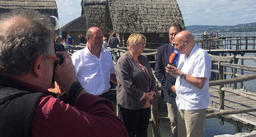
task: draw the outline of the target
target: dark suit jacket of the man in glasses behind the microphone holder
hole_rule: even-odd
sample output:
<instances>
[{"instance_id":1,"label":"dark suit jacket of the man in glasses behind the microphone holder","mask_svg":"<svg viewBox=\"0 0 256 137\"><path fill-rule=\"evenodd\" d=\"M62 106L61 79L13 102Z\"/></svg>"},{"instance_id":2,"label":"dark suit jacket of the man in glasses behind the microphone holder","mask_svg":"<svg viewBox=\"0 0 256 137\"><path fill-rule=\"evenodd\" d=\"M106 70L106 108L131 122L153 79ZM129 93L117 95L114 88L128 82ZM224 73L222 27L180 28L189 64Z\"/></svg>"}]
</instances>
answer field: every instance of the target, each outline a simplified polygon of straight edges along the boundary
<instances>
[{"instance_id":1,"label":"dark suit jacket of the man in glasses behind the microphone holder","mask_svg":"<svg viewBox=\"0 0 256 137\"><path fill-rule=\"evenodd\" d=\"M169 56L172 53L173 49L171 43L158 47L155 64L155 75L159 82L161 82L161 97L168 103L175 102L176 98L176 94L172 94L173 92L169 90L171 86L175 85L176 78L165 71L165 66L169 64ZM173 64L173 66L176 67L175 64Z\"/></svg>"}]
</instances>

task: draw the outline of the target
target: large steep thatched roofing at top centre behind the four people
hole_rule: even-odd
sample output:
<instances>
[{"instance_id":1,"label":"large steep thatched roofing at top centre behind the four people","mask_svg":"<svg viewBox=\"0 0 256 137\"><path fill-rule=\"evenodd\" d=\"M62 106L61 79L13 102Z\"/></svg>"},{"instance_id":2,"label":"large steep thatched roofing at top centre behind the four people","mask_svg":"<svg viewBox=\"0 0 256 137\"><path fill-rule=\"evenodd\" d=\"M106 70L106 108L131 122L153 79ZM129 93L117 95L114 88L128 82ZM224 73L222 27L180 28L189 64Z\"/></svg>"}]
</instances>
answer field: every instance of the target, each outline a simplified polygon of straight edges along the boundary
<instances>
[{"instance_id":1,"label":"large steep thatched roofing at top centre behind the four people","mask_svg":"<svg viewBox=\"0 0 256 137\"><path fill-rule=\"evenodd\" d=\"M166 33L172 22L185 28L176 0L83 0L87 28L106 27L109 8L116 33Z\"/></svg>"}]
</instances>

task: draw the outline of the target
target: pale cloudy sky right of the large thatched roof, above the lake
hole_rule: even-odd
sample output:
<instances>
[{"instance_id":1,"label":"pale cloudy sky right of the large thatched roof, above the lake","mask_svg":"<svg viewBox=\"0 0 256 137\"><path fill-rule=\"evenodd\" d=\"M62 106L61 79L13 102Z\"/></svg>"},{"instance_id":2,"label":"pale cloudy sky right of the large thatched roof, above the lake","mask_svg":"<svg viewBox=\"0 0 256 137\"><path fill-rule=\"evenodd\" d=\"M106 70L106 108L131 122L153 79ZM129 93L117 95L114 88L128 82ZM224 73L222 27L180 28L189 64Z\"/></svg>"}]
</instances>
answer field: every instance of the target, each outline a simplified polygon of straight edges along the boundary
<instances>
[{"instance_id":1,"label":"pale cloudy sky right of the large thatched roof, above the lake","mask_svg":"<svg viewBox=\"0 0 256 137\"><path fill-rule=\"evenodd\" d=\"M256 0L177 0L186 26L256 22Z\"/></svg>"}]
</instances>

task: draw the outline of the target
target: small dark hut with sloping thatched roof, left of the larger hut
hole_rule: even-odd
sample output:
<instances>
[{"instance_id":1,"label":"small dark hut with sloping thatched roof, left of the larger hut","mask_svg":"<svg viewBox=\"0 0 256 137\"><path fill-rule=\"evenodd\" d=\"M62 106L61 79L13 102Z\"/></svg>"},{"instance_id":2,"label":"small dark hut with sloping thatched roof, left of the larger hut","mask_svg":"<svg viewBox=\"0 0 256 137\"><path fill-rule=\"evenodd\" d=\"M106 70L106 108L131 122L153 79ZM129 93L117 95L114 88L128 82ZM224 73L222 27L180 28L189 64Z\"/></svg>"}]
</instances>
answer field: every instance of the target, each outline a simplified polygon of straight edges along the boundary
<instances>
[{"instance_id":1,"label":"small dark hut with sloping thatched roof, left of the larger hut","mask_svg":"<svg viewBox=\"0 0 256 137\"><path fill-rule=\"evenodd\" d=\"M60 31L62 31L62 39L66 39L67 33L70 34L70 36L74 39L74 45L80 44L80 39L78 38L79 35L83 34L86 35L86 19L85 15L82 15L63 27L60 28Z\"/></svg>"}]
</instances>

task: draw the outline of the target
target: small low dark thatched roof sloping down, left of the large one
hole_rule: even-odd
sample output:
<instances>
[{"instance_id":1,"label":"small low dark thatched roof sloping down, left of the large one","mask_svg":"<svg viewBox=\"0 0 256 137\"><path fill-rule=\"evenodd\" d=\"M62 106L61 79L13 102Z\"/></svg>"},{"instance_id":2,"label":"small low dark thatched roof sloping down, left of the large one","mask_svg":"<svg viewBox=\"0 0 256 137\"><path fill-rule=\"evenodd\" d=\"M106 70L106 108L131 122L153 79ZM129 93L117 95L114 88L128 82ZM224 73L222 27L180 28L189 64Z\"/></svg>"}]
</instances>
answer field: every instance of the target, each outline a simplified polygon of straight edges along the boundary
<instances>
[{"instance_id":1,"label":"small low dark thatched roof sloping down, left of the large one","mask_svg":"<svg viewBox=\"0 0 256 137\"><path fill-rule=\"evenodd\" d=\"M61 27L60 31L66 31L66 32L87 31L85 15L82 15L82 16L70 21L65 26Z\"/></svg>"}]
</instances>

